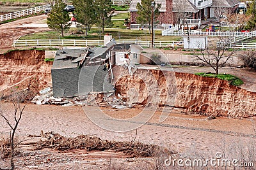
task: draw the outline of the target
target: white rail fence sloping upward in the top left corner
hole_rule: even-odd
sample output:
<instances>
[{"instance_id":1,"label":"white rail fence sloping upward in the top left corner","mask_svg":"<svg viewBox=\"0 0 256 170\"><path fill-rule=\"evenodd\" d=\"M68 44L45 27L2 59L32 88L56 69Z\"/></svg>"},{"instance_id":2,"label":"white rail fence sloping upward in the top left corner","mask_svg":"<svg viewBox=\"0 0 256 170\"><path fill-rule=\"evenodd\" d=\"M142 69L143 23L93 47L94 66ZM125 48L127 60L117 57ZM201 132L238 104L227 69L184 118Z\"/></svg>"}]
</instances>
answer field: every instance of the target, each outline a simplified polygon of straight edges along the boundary
<instances>
[{"instance_id":1,"label":"white rail fence sloping upward in the top left corner","mask_svg":"<svg viewBox=\"0 0 256 170\"><path fill-rule=\"evenodd\" d=\"M13 18L19 18L26 15L31 15L33 13L39 13L41 11L44 11L45 8L49 7L50 4L45 4L43 6L36 6L34 8L29 8L27 10L12 12L12 13L6 13L4 15L0 15L0 22L3 22L5 20L11 20Z\"/></svg>"}]
</instances>

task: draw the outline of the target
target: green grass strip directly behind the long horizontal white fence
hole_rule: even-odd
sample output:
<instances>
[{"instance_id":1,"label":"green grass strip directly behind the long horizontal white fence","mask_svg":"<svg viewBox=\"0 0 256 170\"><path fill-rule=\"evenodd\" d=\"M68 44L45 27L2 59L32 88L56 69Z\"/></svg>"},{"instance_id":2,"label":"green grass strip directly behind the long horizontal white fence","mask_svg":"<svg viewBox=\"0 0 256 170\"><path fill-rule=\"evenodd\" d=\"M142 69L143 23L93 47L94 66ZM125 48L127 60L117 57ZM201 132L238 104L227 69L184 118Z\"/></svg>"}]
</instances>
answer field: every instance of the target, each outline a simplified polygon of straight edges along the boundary
<instances>
[{"instance_id":1,"label":"green grass strip directly behind the long horizontal white fence","mask_svg":"<svg viewBox=\"0 0 256 170\"><path fill-rule=\"evenodd\" d=\"M130 30L130 29L104 29L104 34L111 34L113 38L117 39L139 39L142 41L150 41L151 34L148 30ZM101 29L93 28L88 32L88 36L84 34L72 34L66 35L64 38L60 37L60 33L56 31L37 32L35 34L29 34L21 37L20 39L103 39L104 34L101 33ZM179 41L180 36L162 36L161 31L157 30L155 33L155 41Z\"/></svg>"}]
</instances>

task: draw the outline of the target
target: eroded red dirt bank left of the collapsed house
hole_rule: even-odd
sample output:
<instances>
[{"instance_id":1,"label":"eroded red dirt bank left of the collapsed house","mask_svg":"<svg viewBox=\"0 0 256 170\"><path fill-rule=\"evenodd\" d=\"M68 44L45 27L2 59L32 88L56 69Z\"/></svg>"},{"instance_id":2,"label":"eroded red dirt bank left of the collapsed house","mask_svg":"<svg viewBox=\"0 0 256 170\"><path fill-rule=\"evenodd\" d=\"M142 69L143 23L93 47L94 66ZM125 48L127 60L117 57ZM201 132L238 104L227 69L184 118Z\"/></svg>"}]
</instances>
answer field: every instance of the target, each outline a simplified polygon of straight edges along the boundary
<instances>
[{"instance_id":1,"label":"eroded red dirt bank left of the collapsed house","mask_svg":"<svg viewBox=\"0 0 256 170\"><path fill-rule=\"evenodd\" d=\"M0 55L0 93L13 89L38 92L51 85L51 62L45 62L44 50L19 50Z\"/></svg>"}]
</instances>

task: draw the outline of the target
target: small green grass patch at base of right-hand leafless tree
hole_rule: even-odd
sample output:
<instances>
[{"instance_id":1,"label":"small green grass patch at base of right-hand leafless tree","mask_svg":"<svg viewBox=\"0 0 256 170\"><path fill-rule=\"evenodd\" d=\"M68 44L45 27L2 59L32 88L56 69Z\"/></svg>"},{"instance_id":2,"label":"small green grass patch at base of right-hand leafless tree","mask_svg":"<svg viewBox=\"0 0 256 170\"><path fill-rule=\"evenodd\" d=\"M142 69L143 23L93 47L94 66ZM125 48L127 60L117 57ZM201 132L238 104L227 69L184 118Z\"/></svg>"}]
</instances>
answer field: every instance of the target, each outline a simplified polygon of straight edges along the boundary
<instances>
[{"instance_id":1,"label":"small green grass patch at base of right-hand leafless tree","mask_svg":"<svg viewBox=\"0 0 256 170\"><path fill-rule=\"evenodd\" d=\"M204 77L215 77L220 78L221 80L227 80L230 85L243 85L243 81L240 78L237 78L236 76L233 76L231 74L213 74L213 73L195 73L198 76L204 76Z\"/></svg>"}]
</instances>

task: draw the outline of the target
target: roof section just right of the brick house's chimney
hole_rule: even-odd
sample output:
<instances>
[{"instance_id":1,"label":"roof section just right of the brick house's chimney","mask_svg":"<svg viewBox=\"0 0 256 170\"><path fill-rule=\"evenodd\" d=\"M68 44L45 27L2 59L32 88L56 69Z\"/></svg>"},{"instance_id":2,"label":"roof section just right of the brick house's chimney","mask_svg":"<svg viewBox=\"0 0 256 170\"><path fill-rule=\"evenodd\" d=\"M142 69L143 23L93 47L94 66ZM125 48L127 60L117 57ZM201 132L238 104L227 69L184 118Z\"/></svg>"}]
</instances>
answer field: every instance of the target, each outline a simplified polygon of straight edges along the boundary
<instances>
[{"instance_id":1,"label":"roof section just right of the brick house's chimney","mask_svg":"<svg viewBox=\"0 0 256 170\"><path fill-rule=\"evenodd\" d=\"M191 3L189 0L173 0L173 12L192 12L196 13L199 10L196 8L196 6Z\"/></svg>"}]
</instances>

